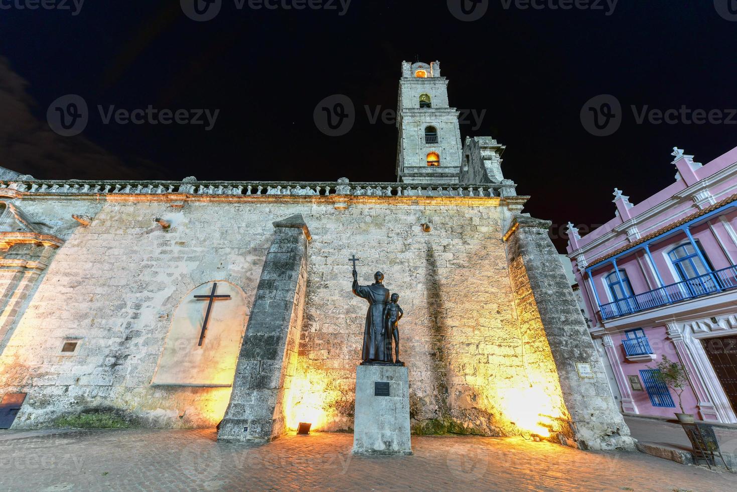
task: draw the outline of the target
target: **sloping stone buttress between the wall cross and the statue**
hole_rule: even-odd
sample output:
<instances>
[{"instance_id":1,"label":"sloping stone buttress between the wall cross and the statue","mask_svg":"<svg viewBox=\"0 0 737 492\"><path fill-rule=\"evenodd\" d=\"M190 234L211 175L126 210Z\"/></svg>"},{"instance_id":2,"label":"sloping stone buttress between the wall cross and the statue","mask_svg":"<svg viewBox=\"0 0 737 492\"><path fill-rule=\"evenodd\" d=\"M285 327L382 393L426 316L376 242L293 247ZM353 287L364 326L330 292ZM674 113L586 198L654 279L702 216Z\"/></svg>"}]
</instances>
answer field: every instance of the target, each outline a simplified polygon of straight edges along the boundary
<instances>
[{"instance_id":1,"label":"sloping stone buttress between the wall cross and the statue","mask_svg":"<svg viewBox=\"0 0 737 492\"><path fill-rule=\"evenodd\" d=\"M269 441L287 426L284 395L296 367L310 230L301 215L273 226L219 440Z\"/></svg>"}]
</instances>

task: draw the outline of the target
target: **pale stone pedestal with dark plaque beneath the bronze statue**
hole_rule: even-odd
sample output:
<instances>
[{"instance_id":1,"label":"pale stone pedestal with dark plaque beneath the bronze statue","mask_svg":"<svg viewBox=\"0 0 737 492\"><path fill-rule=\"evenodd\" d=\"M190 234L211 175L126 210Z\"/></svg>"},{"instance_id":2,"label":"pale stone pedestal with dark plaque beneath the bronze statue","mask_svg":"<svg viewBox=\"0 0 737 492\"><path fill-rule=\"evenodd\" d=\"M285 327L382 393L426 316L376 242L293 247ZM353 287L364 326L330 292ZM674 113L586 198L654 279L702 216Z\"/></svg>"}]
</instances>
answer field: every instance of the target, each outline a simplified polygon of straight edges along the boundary
<instances>
[{"instance_id":1,"label":"pale stone pedestal with dark plaque beneath the bronze statue","mask_svg":"<svg viewBox=\"0 0 737 492\"><path fill-rule=\"evenodd\" d=\"M356 367L354 413L353 454L412 454L407 367Z\"/></svg>"}]
</instances>

